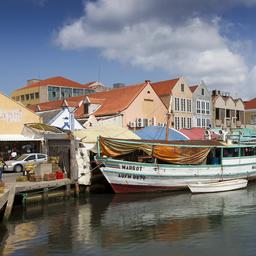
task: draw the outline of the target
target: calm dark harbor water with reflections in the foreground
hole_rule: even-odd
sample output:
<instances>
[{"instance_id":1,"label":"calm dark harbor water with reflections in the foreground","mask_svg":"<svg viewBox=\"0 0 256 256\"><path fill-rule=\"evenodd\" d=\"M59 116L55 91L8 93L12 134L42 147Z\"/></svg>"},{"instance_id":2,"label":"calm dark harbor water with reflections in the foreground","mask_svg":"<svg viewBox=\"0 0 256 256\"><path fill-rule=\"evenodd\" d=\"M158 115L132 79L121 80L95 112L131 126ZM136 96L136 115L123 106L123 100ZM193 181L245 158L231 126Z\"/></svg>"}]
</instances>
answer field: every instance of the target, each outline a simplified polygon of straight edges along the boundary
<instances>
[{"instance_id":1,"label":"calm dark harbor water with reflections in the foreground","mask_svg":"<svg viewBox=\"0 0 256 256\"><path fill-rule=\"evenodd\" d=\"M256 183L225 193L90 195L16 207L0 255L256 255Z\"/></svg>"}]
</instances>

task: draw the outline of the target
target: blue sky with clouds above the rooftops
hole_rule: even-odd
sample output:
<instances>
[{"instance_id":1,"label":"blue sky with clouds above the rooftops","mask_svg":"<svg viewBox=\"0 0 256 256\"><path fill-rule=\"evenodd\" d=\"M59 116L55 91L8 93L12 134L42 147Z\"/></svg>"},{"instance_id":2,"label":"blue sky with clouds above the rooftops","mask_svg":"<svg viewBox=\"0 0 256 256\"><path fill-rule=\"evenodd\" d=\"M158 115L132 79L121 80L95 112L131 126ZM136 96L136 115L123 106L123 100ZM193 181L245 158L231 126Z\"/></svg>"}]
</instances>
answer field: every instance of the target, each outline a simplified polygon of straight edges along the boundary
<instances>
[{"instance_id":1,"label":"blue sky with clouds above the rooftops","mask_svg":"<svg viewBox=\"0 0 256 256\"><path fill-rule=\"evenodd\" d=\"M0 0L0 91L184 77L256 97L256 0Z\"/></svg>"}]
</instances>

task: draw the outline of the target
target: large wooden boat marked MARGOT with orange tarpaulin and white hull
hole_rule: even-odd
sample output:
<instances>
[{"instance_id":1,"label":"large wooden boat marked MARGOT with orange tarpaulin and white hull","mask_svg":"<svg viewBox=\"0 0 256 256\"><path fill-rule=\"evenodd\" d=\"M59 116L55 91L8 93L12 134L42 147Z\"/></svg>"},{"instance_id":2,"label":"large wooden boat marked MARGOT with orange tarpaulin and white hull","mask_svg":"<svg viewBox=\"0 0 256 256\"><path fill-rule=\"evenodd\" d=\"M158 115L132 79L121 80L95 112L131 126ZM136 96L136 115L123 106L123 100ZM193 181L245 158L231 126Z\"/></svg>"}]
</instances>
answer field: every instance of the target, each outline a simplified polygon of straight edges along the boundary
<instances>
[{"instance_id":1,"label":"large wooden boat marked MARGOT with orange tarpaulin and white hull","mask_svg":"<svg viewBox=\"0 0 256 256\"><path fill-rule=\"evenodd\" d=\"M100 137L96 160L115 193L188 189L188 184L256 179L256 144Z\"/></svg>"}]
</instances>

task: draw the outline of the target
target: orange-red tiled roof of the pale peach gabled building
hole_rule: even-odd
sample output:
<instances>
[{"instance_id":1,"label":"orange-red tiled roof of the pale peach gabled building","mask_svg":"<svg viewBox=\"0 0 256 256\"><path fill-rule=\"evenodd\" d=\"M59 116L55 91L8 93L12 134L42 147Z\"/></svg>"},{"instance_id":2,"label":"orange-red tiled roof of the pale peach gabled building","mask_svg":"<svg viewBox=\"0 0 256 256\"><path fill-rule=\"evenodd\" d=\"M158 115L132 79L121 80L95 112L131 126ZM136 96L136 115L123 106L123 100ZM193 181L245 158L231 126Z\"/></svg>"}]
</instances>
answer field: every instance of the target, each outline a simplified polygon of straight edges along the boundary
<instances>
[{"instance_id":1,"label":"orange-red tiled roof of the pale peach gabled building","mask_svg":"<svg viewBox=\"0 0 256 256\"><path fill-rule=\"evenodd\" d=\"M90 103L101 104L94 115L117 114L124 111L147 85L148 83L144 82L110 91L92 93L87 95L87 99Z\"/></svg>"}]
</instances>

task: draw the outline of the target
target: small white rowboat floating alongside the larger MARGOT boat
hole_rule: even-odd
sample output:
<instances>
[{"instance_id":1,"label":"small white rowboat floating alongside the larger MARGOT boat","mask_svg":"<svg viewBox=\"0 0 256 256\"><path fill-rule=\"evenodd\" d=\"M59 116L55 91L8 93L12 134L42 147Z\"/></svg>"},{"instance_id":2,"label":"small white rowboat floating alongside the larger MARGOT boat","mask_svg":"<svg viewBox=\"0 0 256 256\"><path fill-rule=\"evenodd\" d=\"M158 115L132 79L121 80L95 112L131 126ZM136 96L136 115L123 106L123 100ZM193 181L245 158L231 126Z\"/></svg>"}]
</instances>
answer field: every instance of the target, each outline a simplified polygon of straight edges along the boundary
<instances>
[{"instance_id":1,"label":"small white rowboat floating alongside the larger MARGOT boat","mask_svg":"<svg viewBox=\"0 0 256 256\"><path fill-rule=\"evenodd\" d=\"M248 180L246 179L236 179L211 183L188 184L188 187L192 193L213 193L246 188L247 184Z\"/></svg>"}]
</instances>

